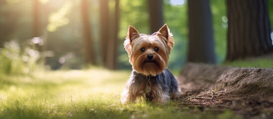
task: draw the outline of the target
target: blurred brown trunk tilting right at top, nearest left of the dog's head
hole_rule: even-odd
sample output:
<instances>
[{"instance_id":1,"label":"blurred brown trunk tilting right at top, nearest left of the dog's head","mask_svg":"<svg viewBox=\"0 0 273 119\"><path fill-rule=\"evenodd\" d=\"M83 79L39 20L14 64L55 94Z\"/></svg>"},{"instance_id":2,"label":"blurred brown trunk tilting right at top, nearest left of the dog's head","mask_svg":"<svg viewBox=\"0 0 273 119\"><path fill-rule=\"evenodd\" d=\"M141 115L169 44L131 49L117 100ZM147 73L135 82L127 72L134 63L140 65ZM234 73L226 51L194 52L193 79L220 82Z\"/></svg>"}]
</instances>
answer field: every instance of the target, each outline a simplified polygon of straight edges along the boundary
<instances>
[{"instance_id":1,"label":"blurred brown trunk tilting right at top, nearest left of the dog's head","mask_svg":"<svg viewBox=\"0 0 273 119\"><path fill-rule=\"evenodd\" d=\"M113 38L108 39L107 47L107 64L106 67L109 69L117 69L117 48L118 48L118 31L119 31L119 0L115 0L115 11L111 15L113 20L111 20L111 29L113 33L111 36ZM113 21L113 22L112 22Z\"/></svg>"}]
</instances>

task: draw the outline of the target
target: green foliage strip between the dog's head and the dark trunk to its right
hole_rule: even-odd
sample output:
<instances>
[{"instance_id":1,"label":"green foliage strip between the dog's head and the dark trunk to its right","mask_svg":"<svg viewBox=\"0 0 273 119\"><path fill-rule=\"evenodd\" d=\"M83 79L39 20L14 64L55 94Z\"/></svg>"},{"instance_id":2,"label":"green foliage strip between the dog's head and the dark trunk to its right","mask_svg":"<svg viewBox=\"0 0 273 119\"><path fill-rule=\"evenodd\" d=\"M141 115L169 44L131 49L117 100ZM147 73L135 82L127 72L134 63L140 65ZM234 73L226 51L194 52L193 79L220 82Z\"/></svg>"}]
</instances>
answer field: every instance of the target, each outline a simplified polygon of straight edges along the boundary
<instances>
[{"instance_id":1,"label":"green foliage strip between the dog's head and the dark trunk to its right","mask_svg":"<svg viewBox=\"0 0 273 119\"><path fill-rule=\"evenodd\" d=\"M172 5L164 0L164 20L174 35L175 46L171 52L169 68L180 69L187 55L187 5Z\"/></svg>"}]
</instances>

